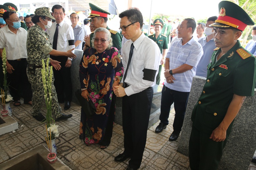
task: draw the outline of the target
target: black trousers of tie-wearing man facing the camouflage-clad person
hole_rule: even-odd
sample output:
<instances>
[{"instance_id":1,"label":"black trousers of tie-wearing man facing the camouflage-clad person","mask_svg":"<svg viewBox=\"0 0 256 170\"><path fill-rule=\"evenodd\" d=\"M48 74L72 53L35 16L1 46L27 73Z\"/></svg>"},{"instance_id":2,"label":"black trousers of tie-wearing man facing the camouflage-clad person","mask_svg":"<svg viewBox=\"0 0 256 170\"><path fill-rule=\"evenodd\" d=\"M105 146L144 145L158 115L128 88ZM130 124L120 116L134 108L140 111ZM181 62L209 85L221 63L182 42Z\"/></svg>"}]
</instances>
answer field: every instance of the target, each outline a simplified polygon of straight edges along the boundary
<instances>
[{"instance_id":1,"label":"black trousers of tie-wearing man facing the camouflage-clad person","mask_svg":"<svg viewBox=\"0 0 256 170\"><path fill-rule=\"evenodd\" d=\"M71 83L71 67L65 67L68 57L65 56L50 56L53 60L57 60L61 65L61 69L53 70L54 86L56 89L59 102L71 101L72 99L72 83Z\"/></svg>"}]
</instances>

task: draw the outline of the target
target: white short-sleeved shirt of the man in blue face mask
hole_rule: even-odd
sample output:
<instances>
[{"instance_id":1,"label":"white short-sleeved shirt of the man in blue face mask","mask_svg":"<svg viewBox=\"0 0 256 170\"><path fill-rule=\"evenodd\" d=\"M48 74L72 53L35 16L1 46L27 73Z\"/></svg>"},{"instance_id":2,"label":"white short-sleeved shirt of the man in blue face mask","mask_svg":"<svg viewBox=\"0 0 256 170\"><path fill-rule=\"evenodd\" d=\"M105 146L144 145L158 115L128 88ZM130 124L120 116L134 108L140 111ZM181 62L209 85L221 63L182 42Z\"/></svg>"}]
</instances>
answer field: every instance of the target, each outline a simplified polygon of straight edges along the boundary
<instances>
[{"instance_id":1,"label":"white short-sleeved shirt of the man in blue face mask","mask_svg":"<svg viewBox=\"0 0 256 170\"><path fill-rule=\"evenodd\" d=\"M15 34L8 25L0 29L0 48L5 48L8 60L27 58L27 34L23 28L18 28Z\"/></svg>"}]
</instances>

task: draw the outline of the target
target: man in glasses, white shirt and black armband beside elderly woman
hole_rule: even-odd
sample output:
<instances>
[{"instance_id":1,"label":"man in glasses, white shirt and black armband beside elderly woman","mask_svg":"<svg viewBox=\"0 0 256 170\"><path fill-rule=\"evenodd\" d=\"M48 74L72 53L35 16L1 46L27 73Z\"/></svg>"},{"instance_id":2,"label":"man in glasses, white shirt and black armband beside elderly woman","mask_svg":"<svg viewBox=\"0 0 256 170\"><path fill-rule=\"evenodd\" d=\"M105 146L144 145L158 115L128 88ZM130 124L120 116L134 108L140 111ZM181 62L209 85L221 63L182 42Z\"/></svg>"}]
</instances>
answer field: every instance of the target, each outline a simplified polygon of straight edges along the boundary
<instances>
[{"instance_id":1,"label":"man in glasses, white shirt and black armband beside elderly woman","mask_svg":"<svg viewBox=\"0 0 256 170\"><path fill-rule=\"evenodd\" d=\"M157 44L141 31L143 17L131 8L119 14L120 31L128 41L122 47L125 74L119 86L114 87L117 97L123 97L124 152L115 161L129 160L128 170L140 167L146 145L153 86L161 56ZM124 83L124 87L122 87Z\"/></svg>"}]
</instances>

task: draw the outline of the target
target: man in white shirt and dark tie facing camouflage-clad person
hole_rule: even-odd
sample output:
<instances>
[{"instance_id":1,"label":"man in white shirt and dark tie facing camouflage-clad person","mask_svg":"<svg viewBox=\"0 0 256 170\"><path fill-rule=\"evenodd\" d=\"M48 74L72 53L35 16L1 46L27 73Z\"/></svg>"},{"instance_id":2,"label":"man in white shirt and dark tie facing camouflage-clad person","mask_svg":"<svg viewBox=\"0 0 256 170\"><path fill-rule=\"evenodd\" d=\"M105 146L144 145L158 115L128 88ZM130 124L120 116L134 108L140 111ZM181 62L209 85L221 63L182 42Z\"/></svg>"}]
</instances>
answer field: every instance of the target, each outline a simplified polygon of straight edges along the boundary
<instances>
[{"instance_id":1,"label":"man in white shirt and dark tie facing camouflage-clad person","mask_svg":"<svg viewBox=\"0 0 256 170\"><path fill-rule=\"evenodd\" d=\"M74 45L74 32L70 25L68 25L63 19L65 17L65 10L60 5L54 5L52 7L53 17L56 22L52 23L52 26L47 29L47 33L50 36L50 43L54 50L66 52L75 48ZM58 24L58 25L57 25ZM58 32L57 32L58 27ZM56 36L55 35L56 32ZM57 39L57 42L54 41ZM55 43L56 44L55 44ZM55 49L56 48L56 49ZM54 86L58 96L59 103L64 103L64 109L70 108L70 102L72 98L72 84L71 84L71 64L72 59L68 57L50 56L53 60L57 60L61 65L60 70L53 69L54 74Z\"/></svg>"}]
</instances>

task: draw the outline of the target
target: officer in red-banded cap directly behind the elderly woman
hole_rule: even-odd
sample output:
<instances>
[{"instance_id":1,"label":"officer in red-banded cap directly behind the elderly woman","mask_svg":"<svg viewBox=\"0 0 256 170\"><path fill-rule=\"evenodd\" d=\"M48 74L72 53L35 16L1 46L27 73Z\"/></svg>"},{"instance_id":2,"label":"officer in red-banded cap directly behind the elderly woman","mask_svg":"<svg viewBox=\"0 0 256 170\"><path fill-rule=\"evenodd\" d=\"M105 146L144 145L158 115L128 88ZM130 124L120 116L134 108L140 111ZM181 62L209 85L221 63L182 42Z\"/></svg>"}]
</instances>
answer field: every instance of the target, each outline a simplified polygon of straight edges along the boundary
<instances>
[{"instance_id":1,"label":"officer in red-banded cap directly behind the elderly woman","mask_svg":"<svg viewBox=\"0 0 256 170\"><path fill-rule=\"evenodd\" d=\"M110 30L107 26L107 15L110 15L109 12L104 11L102 9L100 9L99 7L89 3L90 9L91 9L91 15L88 18L91 18L91 24L94 28L94 30L96 30L97 28L103 27L106 28L107 30L109 30L109 32L111 33L111 38L113 39L113 47L116 47L119 51L119 53L121 53L121 48L122 48L122 37L120 35L119 32L116 32L114 30ZM92 47L92 38L93 38L93 34L90 34L90 47Z\"/></svg>"}]
</instances>

